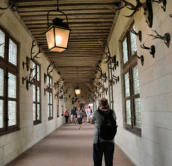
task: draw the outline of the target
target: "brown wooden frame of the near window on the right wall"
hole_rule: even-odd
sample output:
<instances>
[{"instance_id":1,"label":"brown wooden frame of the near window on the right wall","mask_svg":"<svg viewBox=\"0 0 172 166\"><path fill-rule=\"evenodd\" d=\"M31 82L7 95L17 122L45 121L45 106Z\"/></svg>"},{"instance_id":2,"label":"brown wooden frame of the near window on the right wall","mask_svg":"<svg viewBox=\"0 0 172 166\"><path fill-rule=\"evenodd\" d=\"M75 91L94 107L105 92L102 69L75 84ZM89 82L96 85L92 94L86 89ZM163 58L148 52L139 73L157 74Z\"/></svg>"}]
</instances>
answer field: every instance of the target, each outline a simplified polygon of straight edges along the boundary
<instances>
[{"instance_id":1,"label":"brown wooden frame of the near window on the right wall","mask_svg":"<svg viewBox=\"0 0 172 166\"><path fill-rule=\"evenodd\" d=\"M121 72L121 78L122 78L122 96L123 96L123 124L124 128L131 131L132 133L141 136L141 128L138 128L136 126L136 117L135 117L135 103L134 100L135 98L140 98L140 93L139 94L134 94L134 80L133 80L133 68L138 65L137 63L137 51L132 54L132 48L131 48L131 36L130 32L133 27L134 23L130 25L130 27L127 29L125 35L123 36L122 40L120 41L121 45L121 67L122 67L122 72ZM127 38L127 51L128 51L128 61L124 64L123 60L123 42ZM125 74L129 73L129 90L130 90L130 96L125 96L126 92L126 87L125 87ZM130 113L131 113L131 125L127 124L127 112L126 112L126 101L127 99L130 99Z\"/></svg>"}]
</instances>

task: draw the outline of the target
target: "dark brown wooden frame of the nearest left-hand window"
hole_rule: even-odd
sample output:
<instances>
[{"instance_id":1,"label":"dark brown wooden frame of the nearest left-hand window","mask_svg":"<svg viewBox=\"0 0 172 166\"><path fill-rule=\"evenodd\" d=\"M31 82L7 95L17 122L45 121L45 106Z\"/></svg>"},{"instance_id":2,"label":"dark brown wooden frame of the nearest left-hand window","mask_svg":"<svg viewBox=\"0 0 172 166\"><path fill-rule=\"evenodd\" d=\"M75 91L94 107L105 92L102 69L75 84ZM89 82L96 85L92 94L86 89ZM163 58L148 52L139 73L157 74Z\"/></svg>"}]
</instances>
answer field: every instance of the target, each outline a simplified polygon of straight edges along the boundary
<instances>
[{"instance_id":1,"label":"dark brown wooden frame of the nearest left-hand window","mask_svg":"<svg viewBox=\"0 0 172 166\"><path fill-rule=\"evenodd\" d=\"M4 57L0 57L0 68L4 72L4 89L3 89L3 97L0 99L3 100L3 124L4 127L0 129L0 136L5 135L11 132L15 132L20 129L20 110L19 110L19 101L20 101L20 43L13 38L13 36L8 33L2 26L0 26L1 31L5 34L5 46L4 46ZM10 39L16 44L17 46L17 58L16 58L16 66L9 62L9 41ZM9 98L8 97L8 74L11 73L16 76L16 98ZM16 125L8 126L8 101L16 101Z\"/></svg>"}]
</instances>

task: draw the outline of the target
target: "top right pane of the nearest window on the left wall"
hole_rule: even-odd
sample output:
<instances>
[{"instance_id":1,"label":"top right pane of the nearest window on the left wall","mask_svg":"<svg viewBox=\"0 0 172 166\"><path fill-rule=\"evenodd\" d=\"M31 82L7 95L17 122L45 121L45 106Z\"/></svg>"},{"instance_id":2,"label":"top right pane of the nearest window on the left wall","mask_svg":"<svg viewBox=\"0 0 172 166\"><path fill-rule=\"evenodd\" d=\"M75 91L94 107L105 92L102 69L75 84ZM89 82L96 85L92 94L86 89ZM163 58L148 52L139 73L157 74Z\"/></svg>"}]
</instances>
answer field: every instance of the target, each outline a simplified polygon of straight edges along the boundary
<instances>
[{"instance_id":1,"label":"top right pane of the nearest window on the left wall","mask_svg":"<svg viewBox=\"0 0 172 166\"><path fill-rule=\"evenodd\" d=\"M11 39L9 41L9 62L17 65L17 45Z\"/></svg>"}]
</instances>

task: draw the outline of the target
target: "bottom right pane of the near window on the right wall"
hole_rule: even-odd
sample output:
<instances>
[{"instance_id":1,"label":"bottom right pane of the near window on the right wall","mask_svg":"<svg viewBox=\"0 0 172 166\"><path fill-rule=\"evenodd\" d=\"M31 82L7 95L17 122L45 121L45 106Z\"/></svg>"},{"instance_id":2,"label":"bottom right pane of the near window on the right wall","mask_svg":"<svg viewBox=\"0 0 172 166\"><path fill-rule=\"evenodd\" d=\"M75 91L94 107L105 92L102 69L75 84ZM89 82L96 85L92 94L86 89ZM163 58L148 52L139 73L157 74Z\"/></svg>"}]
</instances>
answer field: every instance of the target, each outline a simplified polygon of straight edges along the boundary
<instances>
[{"instance_id":1,"label":"bottom right pane of the near window on the right wall","mask_svg":"<svg viewBox=\"0 0 172 166\"><path fill-rule=\"evenodd\" d=\"M134 104L135 104L135 117L136 117L136 120L135 120L135 123L136 123L136 126L138 128L141 128L141 105L140 105L140 98L136 98L134 100Z\"/></svg>"}]
</instances>

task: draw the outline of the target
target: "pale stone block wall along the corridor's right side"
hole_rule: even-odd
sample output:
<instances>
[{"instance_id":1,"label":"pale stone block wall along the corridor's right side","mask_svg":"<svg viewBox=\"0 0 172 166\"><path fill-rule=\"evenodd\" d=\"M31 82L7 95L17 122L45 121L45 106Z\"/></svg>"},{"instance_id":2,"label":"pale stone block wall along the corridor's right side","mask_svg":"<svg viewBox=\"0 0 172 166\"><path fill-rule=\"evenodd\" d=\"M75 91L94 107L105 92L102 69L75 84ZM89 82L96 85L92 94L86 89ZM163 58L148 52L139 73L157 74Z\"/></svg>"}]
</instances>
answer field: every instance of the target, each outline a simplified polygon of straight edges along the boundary
<instances>
[{"instance_id":1,"label":"pale stone block wall along the corridor's right side","mask_svg":"<svg viewBox=\"0 0 172 166\"><path fill-rule=\"evenodd\" d=\"M142 44L154 44L156 54L153 59L149 51L140 49L137 41L138 55L144 55L144 66L139 64L139 79L141 89L142 136L139 137L123 127L121 65L115 71L120 76L120 82L114 85L114 108L117 114L118 133L116 143L136 164L136 166L171 166L172 164L172 43L170 48L161 40L152 40L148 34L157 30L160 34L169 32L172 35L172 18L169 14L172 1L167 2L167 11L163 12L154 3L154 23L150 29L145 22L143 10L139 10L135 17L136 29L143 33ZM110 36L110 50L120 60L120 39L125 33L132 19L124 17L128 10L121 11L116 25ZM120 61L121 62L121 61ZM120 63L121 64L121 63Z\"/></svg>"}]
</instances>

